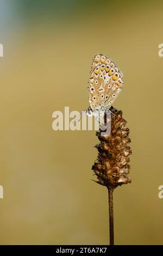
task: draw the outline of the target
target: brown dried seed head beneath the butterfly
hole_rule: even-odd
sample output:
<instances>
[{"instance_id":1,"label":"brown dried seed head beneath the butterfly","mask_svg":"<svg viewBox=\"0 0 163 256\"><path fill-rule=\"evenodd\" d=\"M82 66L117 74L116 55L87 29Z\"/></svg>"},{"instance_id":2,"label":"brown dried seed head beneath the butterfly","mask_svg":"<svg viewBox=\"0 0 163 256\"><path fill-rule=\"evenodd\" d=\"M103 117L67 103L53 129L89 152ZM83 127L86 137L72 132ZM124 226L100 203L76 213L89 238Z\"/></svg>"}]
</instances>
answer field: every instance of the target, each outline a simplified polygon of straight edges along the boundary
<instances>
[{"instance_id":1,"label":"brown dried seed head beneath the butterfly","mask_svg":"<svg viewBox=\"0 0 163 256\"><path fill-rule=\"evenodd\" d=\"M116 188L130 183L128 176L131 154L129 129L125 127L127 121L122 118L122 111L111 107L111 132L102 135L101 130L96 133L100 141L95 147L98 150L98 159L92 166L97 175L98 184L108 188Z\"/></svg>"}]
</instances>

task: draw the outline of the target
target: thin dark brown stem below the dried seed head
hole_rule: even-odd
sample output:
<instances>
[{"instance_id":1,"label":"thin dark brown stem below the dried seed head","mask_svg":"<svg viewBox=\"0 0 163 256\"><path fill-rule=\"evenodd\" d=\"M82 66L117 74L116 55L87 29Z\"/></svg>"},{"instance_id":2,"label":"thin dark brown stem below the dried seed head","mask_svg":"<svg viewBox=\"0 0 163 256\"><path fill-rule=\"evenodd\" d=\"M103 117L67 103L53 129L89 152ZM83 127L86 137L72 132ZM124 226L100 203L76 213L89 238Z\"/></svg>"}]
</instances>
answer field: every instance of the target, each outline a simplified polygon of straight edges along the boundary
<instances>
[{"instance_id":1,"label":"thin dark brown stem below the dried seed head","mask_svg":"<svg viewBox=\"0 0 163 256\"><path fill-rule=\"evenodd\" d=\"M108 187L110 245L114 245L113 188Z\"/></svg>"}]
</instances>

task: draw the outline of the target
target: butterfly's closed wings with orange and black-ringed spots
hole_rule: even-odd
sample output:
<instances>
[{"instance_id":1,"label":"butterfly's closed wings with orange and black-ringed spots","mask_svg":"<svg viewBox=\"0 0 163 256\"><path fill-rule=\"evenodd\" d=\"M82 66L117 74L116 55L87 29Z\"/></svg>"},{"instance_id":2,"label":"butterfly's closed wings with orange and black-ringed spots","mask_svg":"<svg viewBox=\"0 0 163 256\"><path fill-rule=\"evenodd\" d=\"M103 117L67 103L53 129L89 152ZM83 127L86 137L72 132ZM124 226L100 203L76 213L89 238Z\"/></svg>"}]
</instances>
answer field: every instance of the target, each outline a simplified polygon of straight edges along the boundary
<instances>
[{"instance_id":1,"label":"butterfly's closed wings with orange and black-ringed spots","mask_svg":"<svg viewBox=\"0 0 163 256\"><path fill-rule=\"evenodd\" d=\"M96 54L89 79L89 103L93 111L108 109L120 94L122 73L114 62L104 54Z\"/></svg>"}]
</instances>

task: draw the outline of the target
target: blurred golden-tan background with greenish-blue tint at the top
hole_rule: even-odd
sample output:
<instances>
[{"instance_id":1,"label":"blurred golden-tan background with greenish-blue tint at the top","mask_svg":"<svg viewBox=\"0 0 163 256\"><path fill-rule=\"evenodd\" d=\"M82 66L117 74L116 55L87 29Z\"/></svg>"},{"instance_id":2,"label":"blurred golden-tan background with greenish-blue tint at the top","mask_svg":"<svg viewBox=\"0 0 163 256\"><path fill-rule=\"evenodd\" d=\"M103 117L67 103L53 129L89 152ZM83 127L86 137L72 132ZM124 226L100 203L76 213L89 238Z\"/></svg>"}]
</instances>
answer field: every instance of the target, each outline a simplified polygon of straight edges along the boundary
<instances>
[{"instance_id":1,"label":"blurred golden-tan background with greenish-blue tint at the top","mask_svg":"<svg viewBox=\"0 0 163 256\"><path fill-rule=\"evenodd\" d=\"M115 243L163 244L161 1L0 0L1 245L105 245L108 196L92 182L95 131L54 131L88 106L93 56L124 74L131 184L114 192Z\"/></svg>"}]
</instances>

